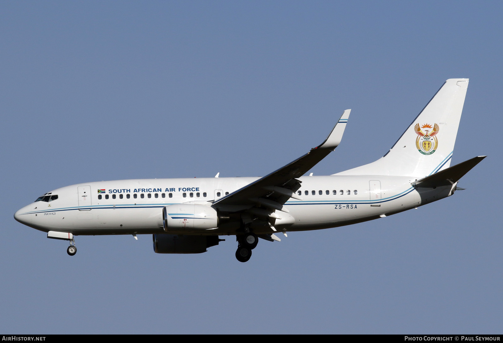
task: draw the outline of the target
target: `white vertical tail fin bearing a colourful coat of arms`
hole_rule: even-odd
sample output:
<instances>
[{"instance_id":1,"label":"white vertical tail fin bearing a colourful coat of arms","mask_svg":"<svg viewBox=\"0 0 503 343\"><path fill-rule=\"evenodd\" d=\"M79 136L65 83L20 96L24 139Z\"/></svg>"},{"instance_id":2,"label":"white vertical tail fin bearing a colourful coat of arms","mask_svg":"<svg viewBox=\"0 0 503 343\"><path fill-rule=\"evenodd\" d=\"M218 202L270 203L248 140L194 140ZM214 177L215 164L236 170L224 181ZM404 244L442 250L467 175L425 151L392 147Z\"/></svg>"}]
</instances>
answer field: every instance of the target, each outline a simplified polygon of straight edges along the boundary
<instances>
[{"instance_id":1,"label":"white vertical tail fin bearing a colourful coat of arms","mask_svg":"<svg viewBox=\"0 0 503 343\"><path fill-rule=\"evenodd\" d=\"M375 162L334 175L426 177L448 168L468 79L449 79L389 151Z\"/></svg>"}]
</instances>

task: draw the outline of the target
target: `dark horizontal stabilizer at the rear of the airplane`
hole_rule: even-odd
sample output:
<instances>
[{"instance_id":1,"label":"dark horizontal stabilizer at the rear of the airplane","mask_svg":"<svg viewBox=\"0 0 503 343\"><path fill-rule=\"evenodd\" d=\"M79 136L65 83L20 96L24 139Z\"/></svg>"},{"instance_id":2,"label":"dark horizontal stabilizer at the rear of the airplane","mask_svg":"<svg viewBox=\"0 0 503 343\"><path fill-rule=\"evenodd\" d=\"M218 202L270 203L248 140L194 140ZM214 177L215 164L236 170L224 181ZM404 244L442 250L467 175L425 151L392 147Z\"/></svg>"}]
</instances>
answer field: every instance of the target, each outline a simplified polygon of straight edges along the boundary
<instances>
[{"instance_id":1,"label":"dark horizontal stabilizer at the rear of the airplane","mask_svg":"<svg viewBox=\"0 0 503 343\"><path fill-rule=\"evenodd\" d=\"M438 173L427 176L421 180L417 180L412 183L412 186L416 188L435 188L454 185L485 157L486 156L477 156L470 158L467 161L453 165L452 167L441 170Z\"/></svg>"}]
</instances>

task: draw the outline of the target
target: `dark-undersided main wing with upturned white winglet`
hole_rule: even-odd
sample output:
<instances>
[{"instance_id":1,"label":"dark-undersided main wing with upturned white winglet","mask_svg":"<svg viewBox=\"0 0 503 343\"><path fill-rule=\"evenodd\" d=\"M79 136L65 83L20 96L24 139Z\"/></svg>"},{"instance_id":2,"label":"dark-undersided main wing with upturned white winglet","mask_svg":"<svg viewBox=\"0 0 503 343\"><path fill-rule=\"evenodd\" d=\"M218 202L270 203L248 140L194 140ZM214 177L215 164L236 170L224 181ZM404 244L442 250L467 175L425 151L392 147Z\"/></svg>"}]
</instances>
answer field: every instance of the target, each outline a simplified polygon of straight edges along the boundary
<instances>
[{"instance_id":1,"label":"dark-undersided main wing with upturned white winglet","mask_svg":"<svg viewBox=\"0 0 503 343\"><path fill-rule=\"evenodd\" d=\"M295 193L300 188L301 183L296 178L307 173L309 169L339 145L350 112L350 109L344 111L323 143L312 148L305 155L273 171L273 173L215 201L212 207L222 212L247 212L249 214L249 223L259 217L266 219L275 230L273 226L275 221L281 220L282 217L286 218L288 215L278 215L274 212L279 210L288 213L283 205L290 198L302 200ZM246 216L241 216L241 218L243 217L246 218ZM263 222L263 225L267 224L267 222Z\"/></svg>"}]
</instances>

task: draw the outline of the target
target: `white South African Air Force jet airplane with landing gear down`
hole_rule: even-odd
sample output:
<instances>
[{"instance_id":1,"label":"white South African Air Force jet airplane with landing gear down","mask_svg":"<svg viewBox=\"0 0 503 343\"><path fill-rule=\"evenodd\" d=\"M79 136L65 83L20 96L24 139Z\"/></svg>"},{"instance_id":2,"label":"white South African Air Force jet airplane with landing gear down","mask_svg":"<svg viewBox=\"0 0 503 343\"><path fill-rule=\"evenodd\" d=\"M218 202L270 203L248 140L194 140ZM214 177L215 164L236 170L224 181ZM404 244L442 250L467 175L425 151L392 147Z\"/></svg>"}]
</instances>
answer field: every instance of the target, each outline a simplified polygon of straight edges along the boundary
<instances>
[{"instance_id":1,"label":"white South African Air Force jet airplane with landing gear down","mask_svg":"<svg viewBox=\"0 0 503 343\"><path fill-rule=\"evenodd\" d=\"M468 79L449 79L389 151L376 161L329 176L305 174L341 142L351 110L326 139L262 178L120 180L45 193L14 214L47 238L151 234L160 254L203 253L235 236L246 262L259 238L379 219L452 196L486 156L450 166Z\"/></svg>"}]
</instances>

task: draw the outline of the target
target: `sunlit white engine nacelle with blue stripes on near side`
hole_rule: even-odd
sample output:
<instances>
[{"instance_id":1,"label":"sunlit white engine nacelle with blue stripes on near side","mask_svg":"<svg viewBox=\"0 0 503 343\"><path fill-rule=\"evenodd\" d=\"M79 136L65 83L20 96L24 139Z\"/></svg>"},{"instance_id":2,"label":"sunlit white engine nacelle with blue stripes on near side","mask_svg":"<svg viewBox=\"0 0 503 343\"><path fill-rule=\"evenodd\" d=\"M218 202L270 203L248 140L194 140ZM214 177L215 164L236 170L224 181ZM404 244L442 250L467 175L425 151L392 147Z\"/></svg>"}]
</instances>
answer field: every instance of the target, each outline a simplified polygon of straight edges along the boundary
<instances>
[{"instance_id":1,"label":"sunlit white engine nacelle with blue stripes on near side","mask_svg":"<svg viewBox=\"0 0 503 343\"><path fill-rule=\"evenodd\" d=\"M217 211L208 205L178 204L162 210L165 232L208 230L218 227Z\"/></svg>"}]
</instances>

